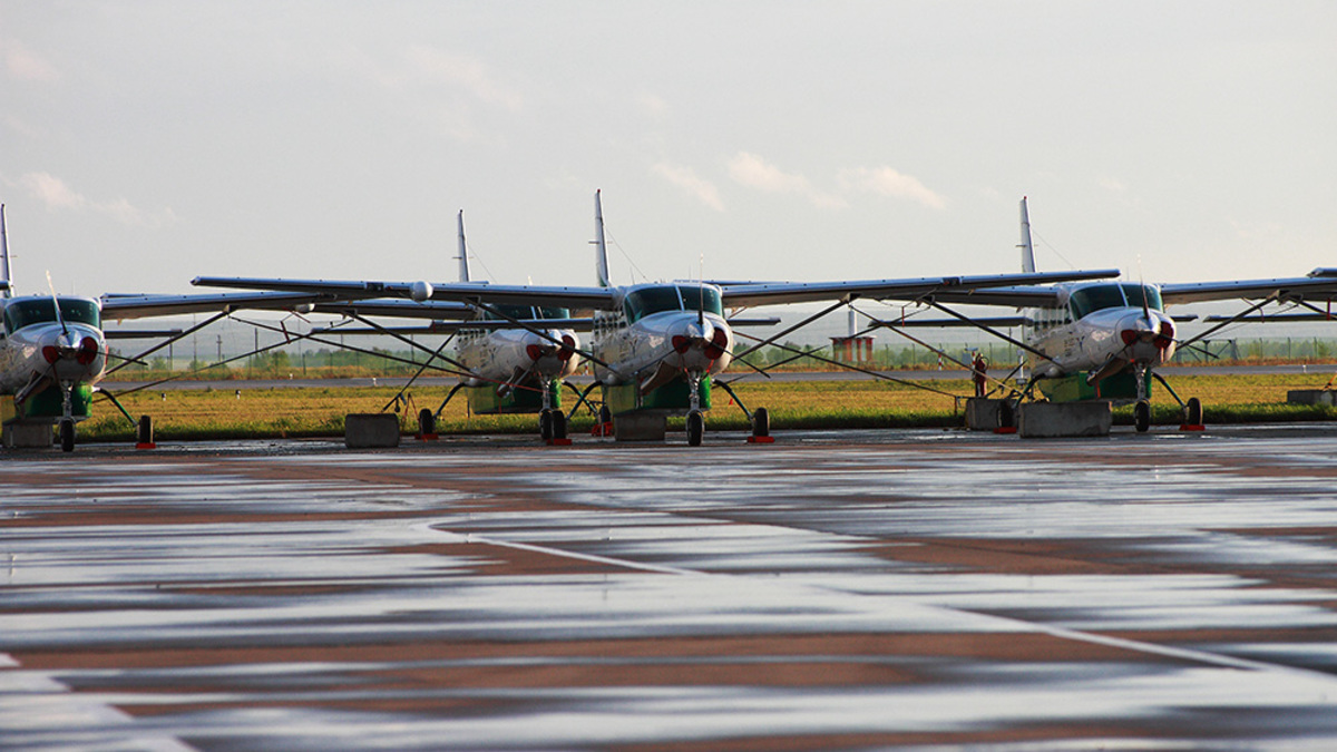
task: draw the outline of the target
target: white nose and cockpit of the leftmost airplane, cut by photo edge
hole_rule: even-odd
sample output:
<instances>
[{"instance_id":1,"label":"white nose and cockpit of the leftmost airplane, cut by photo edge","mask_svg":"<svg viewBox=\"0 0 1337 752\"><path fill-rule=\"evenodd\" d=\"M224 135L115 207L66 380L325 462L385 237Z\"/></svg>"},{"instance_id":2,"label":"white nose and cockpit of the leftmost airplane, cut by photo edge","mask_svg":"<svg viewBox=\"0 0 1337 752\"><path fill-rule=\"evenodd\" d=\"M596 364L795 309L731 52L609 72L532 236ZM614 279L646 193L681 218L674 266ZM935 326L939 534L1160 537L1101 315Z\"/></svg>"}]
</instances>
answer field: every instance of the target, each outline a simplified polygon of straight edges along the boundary
<instances>
[{"instance_id":1,"label":"white nose and cockpit of the leftmost airplane, cut by photo edge","mask_svg":"<svg viewBox=\"0 0 1337 752\"><path fill-rule=\"evenodd\" d=\"M31 396L35 388L59 384L96 384L107 368L107 343L102 329L83 321L56 321L53 316L23 317L16 312L31 301L53 310L51 298L11 298L5 306L15 312L5 316L0 333L0 393ZM62 298L62 305L75 300L83 306L96 306L87 298Z\"/></svg>"}]
</instances>

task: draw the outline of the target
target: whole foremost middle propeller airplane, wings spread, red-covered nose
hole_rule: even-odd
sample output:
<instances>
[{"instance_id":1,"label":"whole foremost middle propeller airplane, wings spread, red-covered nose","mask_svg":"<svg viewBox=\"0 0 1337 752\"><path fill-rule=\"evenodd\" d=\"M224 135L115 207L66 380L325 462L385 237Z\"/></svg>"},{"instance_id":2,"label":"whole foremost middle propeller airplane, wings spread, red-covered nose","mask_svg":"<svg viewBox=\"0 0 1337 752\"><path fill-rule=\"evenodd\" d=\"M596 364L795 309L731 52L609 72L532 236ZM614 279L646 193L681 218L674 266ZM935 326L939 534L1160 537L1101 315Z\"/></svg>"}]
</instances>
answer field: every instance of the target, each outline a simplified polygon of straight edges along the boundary
<instances>
[{"instance_id":1,"label":"whole foremost middle propeller airplane, wings spread, red-covered nose","mask_svg":"<svg viewBox=\"0 0 1337 752\"><path fill-rule=\"evenodd\" d=\"M837 301L834 308L860 297L920 300L940 293L969 297L993 286L1047 284L1116 277L1116 269L1068 273L1023 273L975 277L923 277L834 282L706 282L677 281L614 286L608 273L603 206L595 193L598 286L496 285L425 281L328 281L255 277L197 277L198 286L320 294L356 304L361 297L400 297L414 301L456 301L485 314L505 318L551 345L572 351L594 365L603 389L606 415L615 423L632 413L663 419L685 415L687 440L699 446L703 412L710 408L711 379L733 360L734 332L725 310L761 305ZM594 339L588 351L567 344L540 326L525 324L501 306L567 308L594 312ZM778 336L783 336L782 332ZM528 344L533 344L532 341ZM528 344L525 351L528 351ZM723 384L721 384L723 385ZM727 389L727 387L725 387ZM582 395L583 399L584 395ZM741 400L737 400L742 405ZM743 408L745 412L746 408ZM747 412L753 434L769 434L765 409ZM616 424L615 424L616 431Z\"/></svg>"}]
</instances>

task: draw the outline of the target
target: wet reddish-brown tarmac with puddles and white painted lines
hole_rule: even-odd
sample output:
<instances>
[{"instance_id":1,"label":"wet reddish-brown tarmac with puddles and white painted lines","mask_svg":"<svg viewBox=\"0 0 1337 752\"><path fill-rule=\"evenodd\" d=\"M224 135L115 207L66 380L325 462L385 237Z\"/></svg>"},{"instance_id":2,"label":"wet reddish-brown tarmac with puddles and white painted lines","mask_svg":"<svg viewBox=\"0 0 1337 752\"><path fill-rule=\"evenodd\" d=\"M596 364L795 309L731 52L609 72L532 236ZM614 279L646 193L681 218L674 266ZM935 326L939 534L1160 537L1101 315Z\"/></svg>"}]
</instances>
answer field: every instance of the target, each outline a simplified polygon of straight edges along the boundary
<instances>
[{"instance_id":1,"label":"wet reddish-brown tarmac with puddles and white painted lines","mask_svg":"<svg viewBox=\"0 0 1337 752\"><path fill-rule=\"evenodd\" d=\"M1337 748L1337 426L775 438L0 452L0 748Z\"/></svg>"}]
</instances>

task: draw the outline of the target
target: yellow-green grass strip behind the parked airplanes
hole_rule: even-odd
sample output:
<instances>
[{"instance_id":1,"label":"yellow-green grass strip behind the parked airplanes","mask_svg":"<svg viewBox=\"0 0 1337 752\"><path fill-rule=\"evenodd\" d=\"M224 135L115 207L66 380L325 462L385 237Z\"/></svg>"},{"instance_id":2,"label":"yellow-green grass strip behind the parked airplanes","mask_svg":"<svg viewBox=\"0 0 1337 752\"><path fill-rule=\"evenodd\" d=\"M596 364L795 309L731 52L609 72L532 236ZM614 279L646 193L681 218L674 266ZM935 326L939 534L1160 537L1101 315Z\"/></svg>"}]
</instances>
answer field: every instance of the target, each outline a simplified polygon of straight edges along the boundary
<instances>
[{"instance_id":1,"label":"yellow-green grass strip behind the parked airplanes","mask_svg":"<svg viewBox=\"0 0 1337 752\"><path fill-rule=\"evenodd\" d=\"M1185 399L1202 400L1206 421L1266 423L1278 420L1337 420L1337 409L1286 404L1289 389L1322 388L1326 375L1271 376L1178 376L1171 384ZM746 381L735 387L750 408L766 407L771 427L785 428L876 428L876 427L952 427L963 421L964 399L971 395L964 379L917 381L948 395L886 381ZM112 385L112 391L115 387ZM239 389L239 391L238 391ZM158 439L257 439L342 436L344 416L350 412L380 412L398 392L397 387L374 388L279 388L247 389L245 381L226 389L143 391L120 397L135 417L151 415ZM445 397L444 389L424 388L409 392L402 405L401 424L406 432L416 430L421 408L436 409ZM570 411L574 396L563 396ZM1152 395L1152 420L1179 423L1178 405L1157 385ZM1131 408L1115 409L1116 423L1131 423ZM572 432L587 431L594 417L583 409L572 419ZM714 430L745 430L743 412L729 395L717 389L714 409L707 415ZM537 416L471 416L463 396L451 401L441 413L441 434L536 432ZM681 419L670 428L681 427ZM88 440L132 440L134 427L106 400L96 400L94 416L79 434Z\"/></svg>"}]
</instances>

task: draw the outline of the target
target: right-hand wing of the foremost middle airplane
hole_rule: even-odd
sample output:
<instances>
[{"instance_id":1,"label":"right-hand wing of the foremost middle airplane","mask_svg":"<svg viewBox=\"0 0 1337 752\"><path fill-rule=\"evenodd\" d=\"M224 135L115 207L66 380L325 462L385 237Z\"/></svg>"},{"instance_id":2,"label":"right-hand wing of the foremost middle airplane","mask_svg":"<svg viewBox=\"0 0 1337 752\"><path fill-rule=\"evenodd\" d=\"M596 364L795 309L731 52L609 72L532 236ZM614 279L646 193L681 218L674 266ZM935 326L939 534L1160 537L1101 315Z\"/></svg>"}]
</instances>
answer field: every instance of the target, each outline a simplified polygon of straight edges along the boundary
<instances>
[{"instance_id":1,"label":"right-hand wing of the foremost middle airplane","mask_svg":"<svg viewBox=\"0 0 1337 752\"><path fill-rule=\"evenodd\" d=\"M1058 293L1044 285L1048 282L1070 282L1076 280L1103 280L1118 277L1118 269L1095 272L1050 272L1039 274L984 274L975 277L920 277L912 280L865 280L845 282L765 282L725 285L721 297L726 308L775 305L790 302L810 302L820 300L840 300L842 297L865 297L877 300L953 300L957 302L979 302L984 305L1043 305L1031 300L1056 300ZM1028 286L1017 286L1028 285ZM991 293L1001 293L1011 288L1009 294L997 300L985 300ZM1003 301L1003 297L1007 301Z\"/></svg>"}]
</instances>

